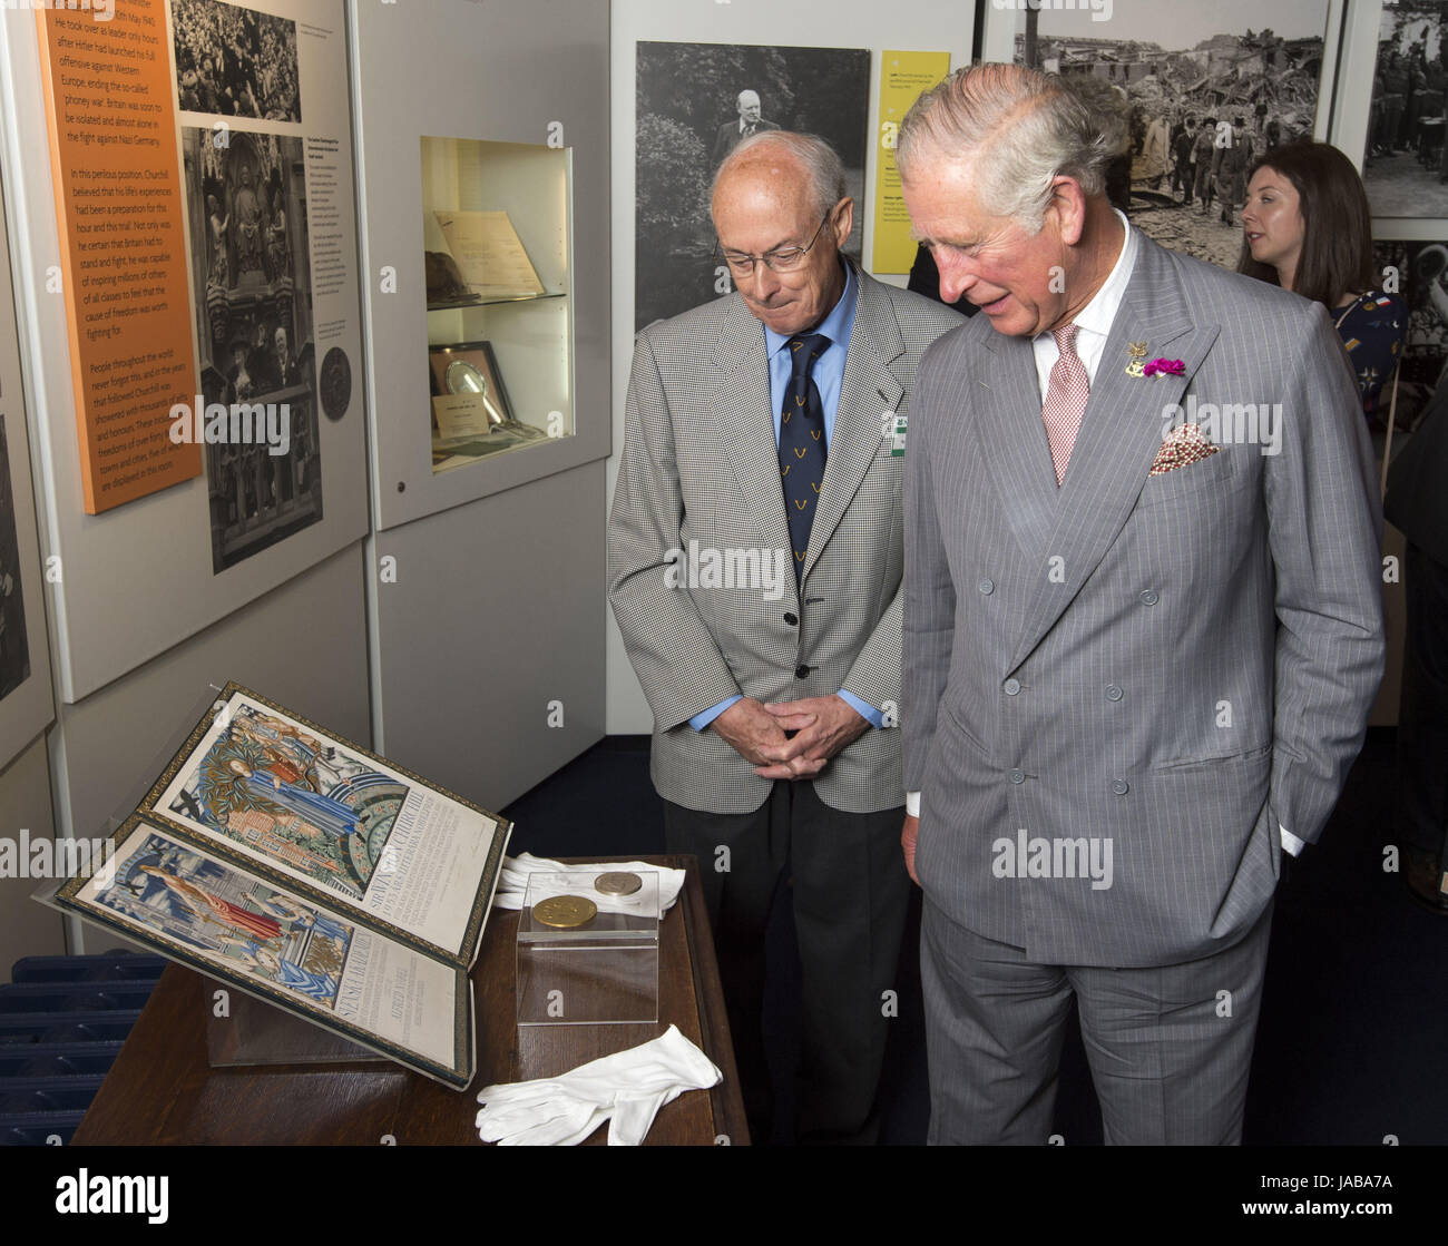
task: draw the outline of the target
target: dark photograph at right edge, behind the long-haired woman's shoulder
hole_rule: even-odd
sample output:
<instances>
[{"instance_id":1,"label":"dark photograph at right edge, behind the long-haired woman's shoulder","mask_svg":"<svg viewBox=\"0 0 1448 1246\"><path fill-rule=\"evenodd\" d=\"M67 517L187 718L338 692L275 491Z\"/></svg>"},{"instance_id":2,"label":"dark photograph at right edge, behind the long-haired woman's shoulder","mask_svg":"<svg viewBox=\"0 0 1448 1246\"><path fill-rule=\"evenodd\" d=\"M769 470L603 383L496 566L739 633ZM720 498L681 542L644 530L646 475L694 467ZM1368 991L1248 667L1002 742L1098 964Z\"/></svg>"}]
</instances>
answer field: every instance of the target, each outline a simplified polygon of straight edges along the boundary
<instances>
[{"instance_id":1,"label":"dark photograph at right edge, behind the long-haired woman's shoulder","mask_svg":"<svg viewBox=\"0 0 1448 1246\"><path fill-rule=\"evenodd\" d=\"M1407 304L1407 340L1397 366L1394 425L1410 433L1428 408L1448 365L1448 243L1373 243L1373 266L1383 285L1396 285ZM1381 401L1387 418L1389 391Z\"/></svg>"}]
</instances>

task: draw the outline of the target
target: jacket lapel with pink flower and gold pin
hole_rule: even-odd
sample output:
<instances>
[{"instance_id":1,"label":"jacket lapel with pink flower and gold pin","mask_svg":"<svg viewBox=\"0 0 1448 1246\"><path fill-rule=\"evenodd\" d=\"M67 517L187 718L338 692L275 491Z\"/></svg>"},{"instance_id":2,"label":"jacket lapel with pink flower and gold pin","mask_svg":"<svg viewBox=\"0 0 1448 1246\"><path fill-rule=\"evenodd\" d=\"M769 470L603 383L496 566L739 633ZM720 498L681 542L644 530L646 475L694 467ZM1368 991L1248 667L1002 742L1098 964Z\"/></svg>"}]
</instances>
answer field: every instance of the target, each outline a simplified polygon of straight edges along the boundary
<instances>
[{"instance_id":1,"label":"jacket lapel with pink flower and gold pin","mask_svg":"<svg viewBox=\"0 0 1448 1246\"><path fill-rule=\"evenodd\" d=\"M1125 527L1161 447L1164 411L1182 401L1192 375L1216 342L1216 324L1193 324L1167 253L1144 236L1138 236L1138 246L1137 266L1096 368L1050 534L1044 546L1030 551L1040 559L1040 575L1027 601L1009 670L1041 643ZM1183 375L1127 375L1132 342L1147 344L1148 359L1180 359ZM1032 398L1040 423L1038 388ZM1050 472L1044 425L1037 444Z\"/></svg>"}]
</instances>

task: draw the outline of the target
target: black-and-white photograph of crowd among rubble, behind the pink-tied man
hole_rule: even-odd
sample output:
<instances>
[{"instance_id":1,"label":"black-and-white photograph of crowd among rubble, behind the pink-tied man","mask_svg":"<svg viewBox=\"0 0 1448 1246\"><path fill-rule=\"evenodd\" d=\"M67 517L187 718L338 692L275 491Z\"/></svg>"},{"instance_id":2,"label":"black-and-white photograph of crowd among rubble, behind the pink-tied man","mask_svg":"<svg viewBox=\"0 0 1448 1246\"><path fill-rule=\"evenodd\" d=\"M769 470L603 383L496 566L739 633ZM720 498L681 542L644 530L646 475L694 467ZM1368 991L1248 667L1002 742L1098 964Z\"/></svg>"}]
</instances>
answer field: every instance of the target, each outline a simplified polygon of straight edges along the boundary
<instances>
[{"instance_id":1,"label":"black-and-white photograph of crowd among rubble, behind the pink-tied man","mask_svg":"<svg viewBox=\"0 0 1448 1246\"><path fill-rule=\"evenodd\" d=\"M1235 268L1253 161L1312 137L1326 20L1328 0L1043 6L1021 14L1015 59L1119 113L1129 169L1114 201L1134 226Z\"/></svg>"}]
</instances>

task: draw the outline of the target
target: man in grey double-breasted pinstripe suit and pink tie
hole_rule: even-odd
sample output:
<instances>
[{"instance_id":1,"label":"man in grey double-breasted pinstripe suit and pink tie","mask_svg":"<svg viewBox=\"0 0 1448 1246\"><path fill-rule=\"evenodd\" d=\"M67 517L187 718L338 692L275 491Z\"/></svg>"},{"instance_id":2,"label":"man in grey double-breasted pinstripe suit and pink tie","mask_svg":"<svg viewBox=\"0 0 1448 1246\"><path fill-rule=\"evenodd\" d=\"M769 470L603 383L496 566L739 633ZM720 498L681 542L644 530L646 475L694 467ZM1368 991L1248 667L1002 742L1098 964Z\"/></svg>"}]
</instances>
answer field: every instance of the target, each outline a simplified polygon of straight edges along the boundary
<instances>
[{"instance_id":1,"label":"man in grey double-breasted pinstripe suit and pink tie","mask_svg":"<svg viewBox=\"0 0 1448 1246\"><path fill-rule=\"evenodd\" d=\"M1280 854L1381 674L1332 324L1135 233L1108 126L985 65L901 130L941 297L983 313L921 363L906 480L935 1142L1047 1140L1073 996L1108 1142L1239 1140Z\"/></svg>"}]
</instances>

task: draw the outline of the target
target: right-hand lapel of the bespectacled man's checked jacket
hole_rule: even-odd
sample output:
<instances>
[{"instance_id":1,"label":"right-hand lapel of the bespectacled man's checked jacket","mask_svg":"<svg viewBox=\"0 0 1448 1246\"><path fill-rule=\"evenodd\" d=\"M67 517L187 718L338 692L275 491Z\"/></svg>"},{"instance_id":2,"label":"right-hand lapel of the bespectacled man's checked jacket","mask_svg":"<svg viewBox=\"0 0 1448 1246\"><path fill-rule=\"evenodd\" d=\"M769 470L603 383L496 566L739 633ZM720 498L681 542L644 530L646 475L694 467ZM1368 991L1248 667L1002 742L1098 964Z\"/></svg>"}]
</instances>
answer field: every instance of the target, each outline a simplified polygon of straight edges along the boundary
<instances>
[{"instance_id":1,"label":"right-hand lapel of the bespectacled man's checked jacket","mask_svg":"<svg viewBox=\"0 0 1448 1246\"><path fill-rule=\"evenodd\" d=\"M896 411L905 397L904 385L891 372L891 363L905 353L905 340L895 321L889 295L859 268L854 269L854 324L844 356L840 404L835 408L824 482L820 485L820 505L809 527L807 576L879 453L885 438L885 414Z\"/></svg>"}]
</instances>

